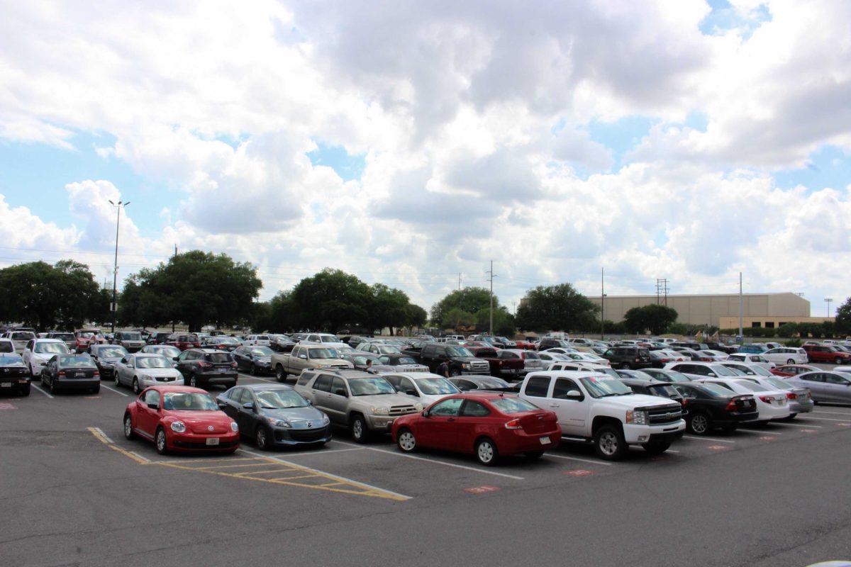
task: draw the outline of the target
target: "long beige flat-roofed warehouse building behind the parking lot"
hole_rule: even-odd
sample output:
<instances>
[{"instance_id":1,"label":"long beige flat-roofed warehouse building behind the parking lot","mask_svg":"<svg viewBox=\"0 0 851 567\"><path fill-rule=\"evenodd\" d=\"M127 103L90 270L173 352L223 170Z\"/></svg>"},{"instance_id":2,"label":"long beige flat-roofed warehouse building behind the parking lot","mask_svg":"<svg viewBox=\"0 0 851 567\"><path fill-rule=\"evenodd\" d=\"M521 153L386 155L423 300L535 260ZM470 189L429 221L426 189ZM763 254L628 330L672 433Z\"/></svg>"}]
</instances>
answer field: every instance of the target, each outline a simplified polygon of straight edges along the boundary
<instances>
[{"instance_id":1,"label":"long beige flat-roofed warehouse building behind the parking lot","mask_svg":"<svg viewBox=\"0 0 851 567\"><path fill-rule=\"evenodd\" d=\"M589 297L600 305L600 296ZM624 319L633 307L656 303L655 295L607 295L603 305L603 318L613 321ZM659 303L665 304L665 298ZM739 326L739 294L669 295L667 305L677 309L677 321L687 325L710 325L721 328ZM795 293L745 293L742 296L744 326L780 326L788 322L815 322L824 318L810 317L808 300ZM735 324L729 325L731 318Z\"/></svg>"}]
</instances>

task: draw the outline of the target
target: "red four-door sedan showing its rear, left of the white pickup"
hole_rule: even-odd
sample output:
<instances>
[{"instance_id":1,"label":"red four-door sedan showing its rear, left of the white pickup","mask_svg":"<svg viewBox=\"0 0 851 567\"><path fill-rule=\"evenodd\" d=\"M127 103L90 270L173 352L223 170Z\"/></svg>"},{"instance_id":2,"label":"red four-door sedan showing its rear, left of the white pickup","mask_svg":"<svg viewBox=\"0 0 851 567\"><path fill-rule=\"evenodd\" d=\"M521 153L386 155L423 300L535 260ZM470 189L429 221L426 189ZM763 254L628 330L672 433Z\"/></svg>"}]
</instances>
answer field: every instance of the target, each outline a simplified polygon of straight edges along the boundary
<instances>
[{"instance_id":1,"label":"red four-door sedan showing its rear, left of the white pickup","mask_svg":"<svg viewBox=\"0 0 851 567\"><path fill-rule=\"evenodd\" d=\"M536 459L558 445L556 414L512 394L455 394L421 413L398 417L393 440L409 453L420 447L474 454L483 465L523 453Z\"/></svg>"}]
</instances>

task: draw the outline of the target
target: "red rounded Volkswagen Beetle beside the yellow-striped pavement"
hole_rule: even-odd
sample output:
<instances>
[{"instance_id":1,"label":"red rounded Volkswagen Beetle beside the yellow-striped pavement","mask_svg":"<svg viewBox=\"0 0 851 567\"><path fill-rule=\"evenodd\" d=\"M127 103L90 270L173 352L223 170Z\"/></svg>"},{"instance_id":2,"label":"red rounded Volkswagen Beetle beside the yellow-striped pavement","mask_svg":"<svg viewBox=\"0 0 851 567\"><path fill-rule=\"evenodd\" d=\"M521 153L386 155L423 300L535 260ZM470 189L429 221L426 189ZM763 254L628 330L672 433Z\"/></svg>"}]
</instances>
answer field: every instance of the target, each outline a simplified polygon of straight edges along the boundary
<instances>
[{"instance_id":1,"label":"red rounded Volkswagen Beetle beside the yellow-striped pavement","mask_svg":"<svg viewBox=\"0 0 851 567\"><path fill-rule=\"evenodd\" d=\"M220 411L201 388L151 386L127 405L124 437L136 435L157 445L157 452L220 451L239 448L237 422Z\"/></svg>"}]
</instances>

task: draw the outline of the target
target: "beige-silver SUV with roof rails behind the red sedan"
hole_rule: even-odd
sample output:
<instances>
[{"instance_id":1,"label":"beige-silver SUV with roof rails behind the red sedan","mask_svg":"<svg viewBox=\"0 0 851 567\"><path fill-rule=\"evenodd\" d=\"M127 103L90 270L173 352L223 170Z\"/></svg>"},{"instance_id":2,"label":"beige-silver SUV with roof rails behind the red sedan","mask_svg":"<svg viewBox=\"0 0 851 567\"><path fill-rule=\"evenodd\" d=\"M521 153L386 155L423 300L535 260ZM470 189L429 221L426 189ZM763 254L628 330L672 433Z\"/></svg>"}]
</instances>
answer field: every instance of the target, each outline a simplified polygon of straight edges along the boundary
<instances>
[{"instance_id":1,"label":"beige-silver SUV with roof rails behind the red sedan","mask_svg":"<svg viewBox=\"0 0 851 567\"><path fill-rule=\"evenodd\" d=\"M399 416L423 410L423 405L397 394L386 379L359 370L302 371L295 391L332 423L349 428L357 443L372 433L389 433Z\"/></svg>"}]
</instances>

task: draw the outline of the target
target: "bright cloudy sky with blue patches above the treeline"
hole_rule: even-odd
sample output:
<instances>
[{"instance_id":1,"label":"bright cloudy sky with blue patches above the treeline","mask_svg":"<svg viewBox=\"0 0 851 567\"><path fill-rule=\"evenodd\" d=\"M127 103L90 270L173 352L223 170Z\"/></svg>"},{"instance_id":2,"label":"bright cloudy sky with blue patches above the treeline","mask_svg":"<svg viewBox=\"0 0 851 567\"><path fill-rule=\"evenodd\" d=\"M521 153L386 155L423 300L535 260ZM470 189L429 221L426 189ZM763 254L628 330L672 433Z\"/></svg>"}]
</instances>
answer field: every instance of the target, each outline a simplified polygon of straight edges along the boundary
<instances>
[{"instance_id":1,"label":"bright cloudy sky with blue patches above the treeline","mask_svg":"<svg viewBox=\"0 0 851 567\"><path fill-rule=\"evenodd\" d=\"M848 297L845 0L0 9L0 266Z\"/></svg>"}]
</instances>

